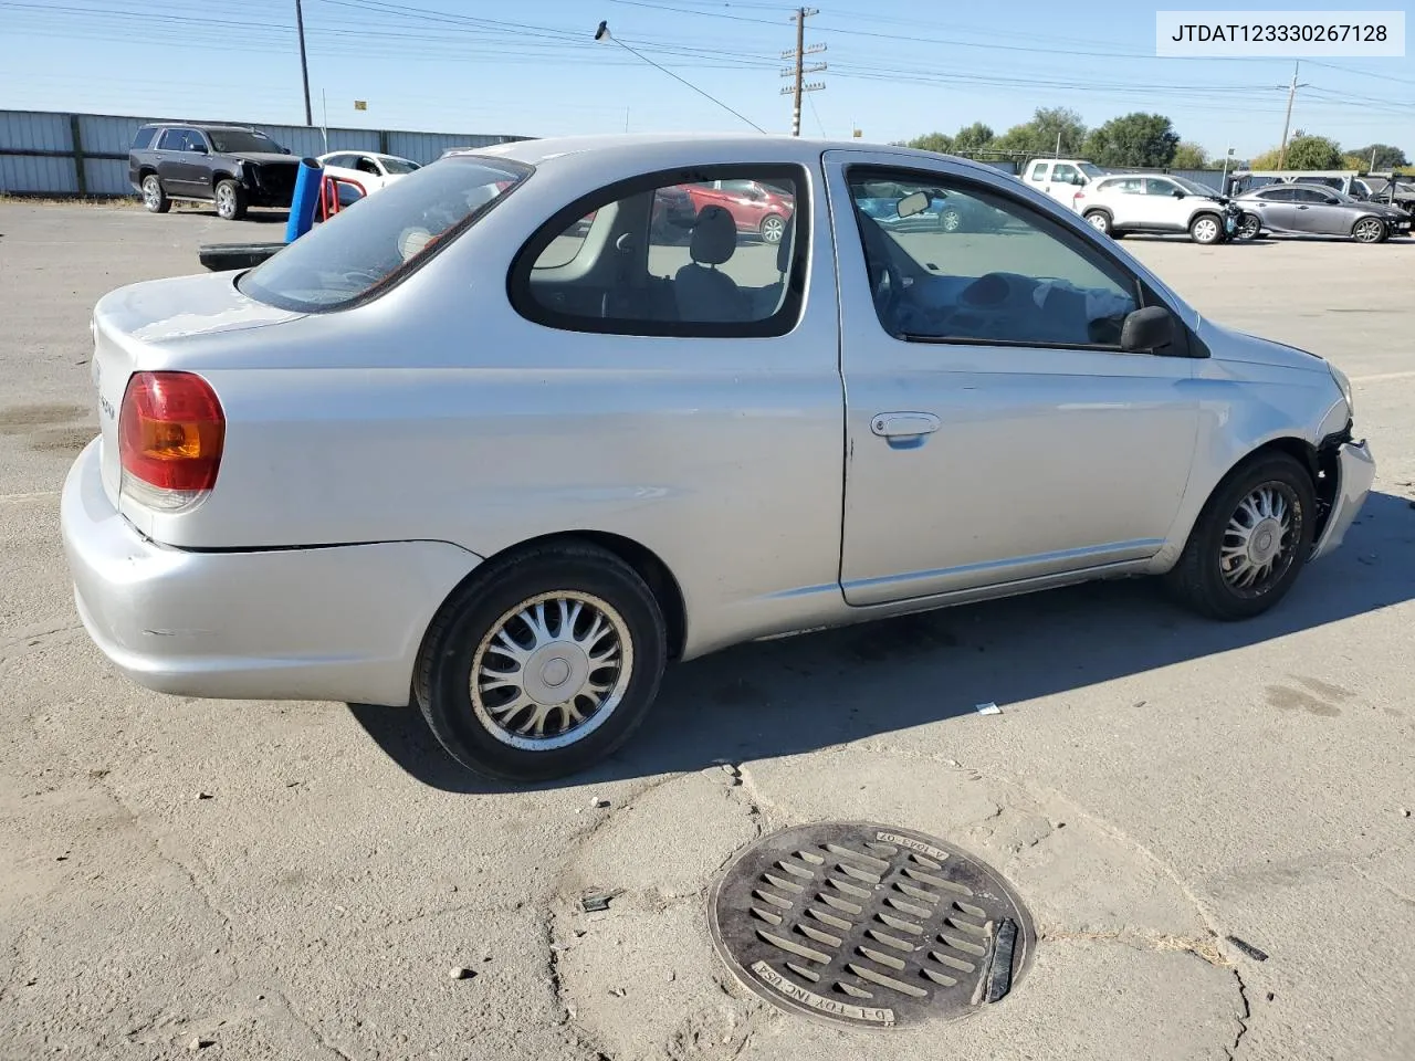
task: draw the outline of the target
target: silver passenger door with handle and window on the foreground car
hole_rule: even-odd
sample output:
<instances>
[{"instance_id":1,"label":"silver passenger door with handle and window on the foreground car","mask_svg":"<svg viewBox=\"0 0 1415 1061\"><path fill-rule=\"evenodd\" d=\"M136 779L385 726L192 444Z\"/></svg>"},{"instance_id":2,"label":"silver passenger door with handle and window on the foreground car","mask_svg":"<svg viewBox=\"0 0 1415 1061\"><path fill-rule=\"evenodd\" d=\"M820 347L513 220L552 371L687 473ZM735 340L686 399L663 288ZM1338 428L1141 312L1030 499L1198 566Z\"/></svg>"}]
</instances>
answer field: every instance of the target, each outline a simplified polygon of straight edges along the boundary
<instances>
[{"instance_id":1,"label":"silver passenger door with handle and window on the foreground car","mask_svg":"<svg viewBox=\"0 0 1415 1061\"><path fill-rule=\"evenodd\" d=\"M1179 511L1199 424L1187 356L1125 354L1156 301L1105 240L961 167L828 151L836 224L846 498L856 605L1121 570ZM944 188L1006 233L891 232L872 181Z\"/></svg>"}]
</instances>

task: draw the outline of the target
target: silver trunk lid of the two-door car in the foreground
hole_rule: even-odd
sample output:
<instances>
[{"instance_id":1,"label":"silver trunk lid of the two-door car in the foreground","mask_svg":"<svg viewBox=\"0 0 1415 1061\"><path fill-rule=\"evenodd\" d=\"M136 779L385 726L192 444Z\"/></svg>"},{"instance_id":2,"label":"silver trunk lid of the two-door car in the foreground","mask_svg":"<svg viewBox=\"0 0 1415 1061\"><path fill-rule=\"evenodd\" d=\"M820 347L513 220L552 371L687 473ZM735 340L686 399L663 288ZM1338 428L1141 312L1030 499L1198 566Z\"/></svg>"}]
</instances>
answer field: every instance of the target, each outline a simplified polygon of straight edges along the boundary
<instances>
[{"instance_id":1,"label":"silver trunk lid of the two-door car in the foreground","mask_svg":"<svg viewBox=\"0 0 1415 1061\"><path fill-rule=\"evenodd\" d=\"M231 273L151 280L120 287L98 301L89 375L98 392L103 492L115 508L123 478L117 420L132 375L173 366L171 348L180 342L282 324L301 315L242 294Z\"/></svg>"}]
</instances>

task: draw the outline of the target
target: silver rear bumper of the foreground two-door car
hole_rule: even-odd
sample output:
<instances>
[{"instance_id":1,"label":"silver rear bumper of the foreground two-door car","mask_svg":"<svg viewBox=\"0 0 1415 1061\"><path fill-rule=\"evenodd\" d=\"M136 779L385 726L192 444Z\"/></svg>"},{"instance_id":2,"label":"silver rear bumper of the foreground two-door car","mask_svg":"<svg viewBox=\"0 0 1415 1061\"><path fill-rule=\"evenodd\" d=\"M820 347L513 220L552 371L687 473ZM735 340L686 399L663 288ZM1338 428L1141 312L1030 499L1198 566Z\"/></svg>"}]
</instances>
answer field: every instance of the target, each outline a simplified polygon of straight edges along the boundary
<instances>
[{"instance_id":1,"label":"silver rear bumper of the foreground two-door car","mask_svg":"<svg viewBox=\"0 0 1415 1061\"><path fill-rule=\"evenodd\" d=\"M79 618L123 673L183 696L408 703L423 632L478 556L446 542L171 549L115 511L98 447L69 470L59 523Z\"/></svg>"}]
</instances>

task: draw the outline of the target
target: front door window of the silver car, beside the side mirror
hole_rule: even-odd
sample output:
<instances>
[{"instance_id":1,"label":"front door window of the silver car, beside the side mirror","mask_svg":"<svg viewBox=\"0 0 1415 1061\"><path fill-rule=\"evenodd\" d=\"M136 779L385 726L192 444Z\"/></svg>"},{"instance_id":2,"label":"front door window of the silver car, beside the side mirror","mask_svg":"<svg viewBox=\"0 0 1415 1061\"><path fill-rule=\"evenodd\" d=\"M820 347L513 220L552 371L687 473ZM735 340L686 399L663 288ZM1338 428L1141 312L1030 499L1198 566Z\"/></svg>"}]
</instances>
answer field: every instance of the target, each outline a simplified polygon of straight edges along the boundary
<instances>
[{"instance_id":1,"label":"front door window of the silver car, beside the side mirror","mask_svg":"<svg viewBox=\"0 0 1415 1061\"><path fill-rule=\"evenodd\" d=\"M1140 304L1139 284L1060 222L971 182L857 168L846 180L867 283L889 334L982 345L1119 347L1121 325ZM882 187L903 192L889 209L879 202ZM957 211L965 224L948 232L897 221L938 208Z\"/></svg>"}]
</instances>

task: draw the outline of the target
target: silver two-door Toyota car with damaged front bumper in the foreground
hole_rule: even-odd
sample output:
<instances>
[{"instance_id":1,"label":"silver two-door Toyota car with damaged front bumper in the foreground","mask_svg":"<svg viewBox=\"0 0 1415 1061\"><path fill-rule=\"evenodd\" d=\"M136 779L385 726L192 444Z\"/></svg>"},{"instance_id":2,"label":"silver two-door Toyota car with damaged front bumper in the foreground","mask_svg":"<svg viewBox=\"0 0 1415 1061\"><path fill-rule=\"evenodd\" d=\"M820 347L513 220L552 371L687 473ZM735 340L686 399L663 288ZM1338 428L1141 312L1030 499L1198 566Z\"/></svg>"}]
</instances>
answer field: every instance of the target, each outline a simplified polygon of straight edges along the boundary
<instances>
[{"instance_id":1,"label":"silver two-door Toyota car with damaged front bumper in the foreground","mask_svg":"<svg viewBox=\"0 0 1415 1061\"><path fill-rule=\"evenodd\" d=\"M657 194L756 180L777 245ZM890 231L938 198L1005 233ZM151 689L416 700L483 774L618 747L665 663L1122 576L1272 607L1373 480L1322 358L996 170L791 137L467 151L93 313L78 613Z\"/></svg>"}]
</instances>

